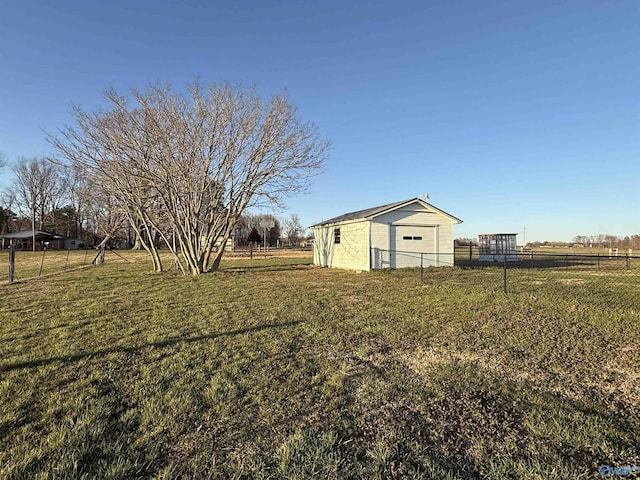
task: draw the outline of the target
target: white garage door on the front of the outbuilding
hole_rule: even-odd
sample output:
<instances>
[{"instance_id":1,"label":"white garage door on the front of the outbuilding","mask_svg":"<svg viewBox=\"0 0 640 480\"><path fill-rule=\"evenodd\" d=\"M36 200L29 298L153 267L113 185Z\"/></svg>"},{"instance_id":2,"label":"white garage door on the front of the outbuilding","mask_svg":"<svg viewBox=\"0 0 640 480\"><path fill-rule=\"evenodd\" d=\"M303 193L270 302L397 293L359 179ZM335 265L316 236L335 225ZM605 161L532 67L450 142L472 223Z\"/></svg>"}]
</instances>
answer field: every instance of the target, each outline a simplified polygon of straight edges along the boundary
<instances>
[{"instance_id":1,"label":"white garage door on the front of the outbuilding","mask_svg":"<svg viewBox=\"0 0 640 480\"><path fill-rule=\"evenodd\" d=\"M392 225L391 268L436 264L436 227Z\"/></svg>"}]
</instances>

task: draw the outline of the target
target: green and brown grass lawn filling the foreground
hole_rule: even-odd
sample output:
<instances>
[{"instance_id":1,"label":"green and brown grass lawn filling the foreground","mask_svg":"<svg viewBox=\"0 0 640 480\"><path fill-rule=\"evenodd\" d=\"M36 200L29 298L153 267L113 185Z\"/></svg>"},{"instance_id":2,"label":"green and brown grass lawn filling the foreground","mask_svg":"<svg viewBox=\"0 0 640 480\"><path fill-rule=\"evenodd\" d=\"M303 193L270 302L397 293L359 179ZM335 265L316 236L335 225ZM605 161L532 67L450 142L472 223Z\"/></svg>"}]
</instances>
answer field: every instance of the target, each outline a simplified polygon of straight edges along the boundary
<instances>
[{"instance_id":1,"label":"green and brown grass lawn filling the foreground","mask_svg":"<svg viewBox=\"0 0 640 480\"><path fill-rule=\"evenodd\" d=\"M127 258L0 285L0 477L640 465L637 295L551 282L505 296L500 269L422 284L263 258L184 277Z\"/></svg>"}]
</instances>

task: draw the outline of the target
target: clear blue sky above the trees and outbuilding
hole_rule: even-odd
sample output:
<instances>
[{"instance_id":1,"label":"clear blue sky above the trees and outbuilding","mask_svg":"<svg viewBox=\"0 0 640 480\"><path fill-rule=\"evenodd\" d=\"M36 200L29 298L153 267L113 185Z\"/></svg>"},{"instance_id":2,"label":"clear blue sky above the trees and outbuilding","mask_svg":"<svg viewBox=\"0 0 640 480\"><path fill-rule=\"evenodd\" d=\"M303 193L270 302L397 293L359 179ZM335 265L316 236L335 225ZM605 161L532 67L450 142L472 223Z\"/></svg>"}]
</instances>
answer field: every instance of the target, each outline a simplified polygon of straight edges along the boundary
<instances>
[{"instance_id":1,"label":"clear blue sky above the trees and outbuilding","mask_svg":"<svg viewBox=\"0 0 640 480\"><path fill-rule=\"evenodd\" d=\"M0 0L0 152L52 153L109 87L199 76L287 89L331 140L279 216L428 192L456 237L638 234L639 25L635 0Z\"/></svg>"}]
</instances>

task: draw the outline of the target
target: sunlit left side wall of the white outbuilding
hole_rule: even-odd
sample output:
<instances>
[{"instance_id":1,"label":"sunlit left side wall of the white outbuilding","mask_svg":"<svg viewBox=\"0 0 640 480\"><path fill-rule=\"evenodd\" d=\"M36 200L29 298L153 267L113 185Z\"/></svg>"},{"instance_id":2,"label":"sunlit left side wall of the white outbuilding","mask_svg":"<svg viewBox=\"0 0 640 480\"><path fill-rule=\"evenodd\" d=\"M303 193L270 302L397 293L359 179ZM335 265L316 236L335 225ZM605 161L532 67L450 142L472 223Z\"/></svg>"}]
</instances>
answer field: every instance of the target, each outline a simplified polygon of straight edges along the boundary
<instances>
[{"instance_id":1,"label":"sunlit left side wall of the white outbuilding","mask_svg":"<svg viewBox=\"0 0 640 480\"><path fill-rule=\"evenodd\" d=\"M335 229L340 243L335 243ZM321 267L369 270L369 222L359 220L313 229L313 263Z\"/></svg>"}]
</instances>

